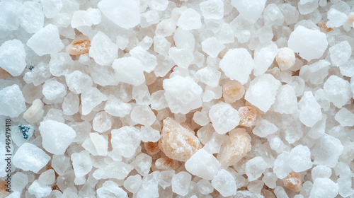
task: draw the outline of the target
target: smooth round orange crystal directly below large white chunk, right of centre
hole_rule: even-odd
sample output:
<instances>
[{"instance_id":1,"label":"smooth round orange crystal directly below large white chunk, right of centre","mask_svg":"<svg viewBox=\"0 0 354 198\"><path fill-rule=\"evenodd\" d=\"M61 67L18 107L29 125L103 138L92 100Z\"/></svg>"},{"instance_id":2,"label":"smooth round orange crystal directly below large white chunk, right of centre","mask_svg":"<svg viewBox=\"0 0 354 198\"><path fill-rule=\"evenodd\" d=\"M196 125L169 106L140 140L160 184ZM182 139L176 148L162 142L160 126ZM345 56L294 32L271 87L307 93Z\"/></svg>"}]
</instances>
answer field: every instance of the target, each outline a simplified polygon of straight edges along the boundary
<instances>
[{"instance_id":1,"label":"smooth round orange crystal directly below large white chunk, right of centre","mask_svg":"<svg viewBox=\"0 0 354 198\"><path fill-rule=\"evenodd\" d=\"M234 103L244 97L244 86L239 81L229 81L222 86L222 98L227 103Z\"/></svg>"}]
</instances>

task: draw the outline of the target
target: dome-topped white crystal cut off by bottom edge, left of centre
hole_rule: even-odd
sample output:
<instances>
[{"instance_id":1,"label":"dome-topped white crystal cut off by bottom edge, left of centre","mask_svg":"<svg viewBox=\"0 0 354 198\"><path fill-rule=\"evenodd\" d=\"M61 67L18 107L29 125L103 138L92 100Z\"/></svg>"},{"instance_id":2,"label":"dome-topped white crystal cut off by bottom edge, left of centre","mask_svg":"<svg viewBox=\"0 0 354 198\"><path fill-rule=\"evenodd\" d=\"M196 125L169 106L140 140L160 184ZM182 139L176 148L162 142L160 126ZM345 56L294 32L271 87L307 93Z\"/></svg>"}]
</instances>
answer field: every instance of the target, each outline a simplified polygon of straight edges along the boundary
<instances>
[{"instance_id":1,"label":"dome-topped white crystal cut off by bottom edge, left of centre","mask_svg":"<svg viewBox=\"0 0 354 198\"><path fill-rule=\"evenodd\" d=\"M121 187L116 182L105 181L102 187L97 189L97 195L100 198L109 198L109 197L120 197L128 198L127 192L122 190Z\"/></svg>"}]
</instances>

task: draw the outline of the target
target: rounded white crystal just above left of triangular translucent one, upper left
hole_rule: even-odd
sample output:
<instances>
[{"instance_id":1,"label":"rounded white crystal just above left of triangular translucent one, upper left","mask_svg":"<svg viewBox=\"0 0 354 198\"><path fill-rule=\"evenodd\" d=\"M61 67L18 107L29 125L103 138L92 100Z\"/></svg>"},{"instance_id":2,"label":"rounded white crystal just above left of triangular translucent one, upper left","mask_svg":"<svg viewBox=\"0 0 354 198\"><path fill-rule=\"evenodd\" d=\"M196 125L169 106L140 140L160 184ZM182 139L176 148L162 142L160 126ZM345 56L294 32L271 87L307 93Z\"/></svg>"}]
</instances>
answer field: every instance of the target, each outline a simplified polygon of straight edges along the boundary
<instances>
[{"instance_id":1,"label":"rounded white crystal just above left of triangular translucent one, upper left","mask_svg":"<svg viewBox=\"0 0 354 198\"><path fill-rule=\"evenodd\" d=\"M77 70L66 75L65 80L69 90L74 93L82 93L93 85L92 78L89 75Z\"/></svg>"}]
</instances>

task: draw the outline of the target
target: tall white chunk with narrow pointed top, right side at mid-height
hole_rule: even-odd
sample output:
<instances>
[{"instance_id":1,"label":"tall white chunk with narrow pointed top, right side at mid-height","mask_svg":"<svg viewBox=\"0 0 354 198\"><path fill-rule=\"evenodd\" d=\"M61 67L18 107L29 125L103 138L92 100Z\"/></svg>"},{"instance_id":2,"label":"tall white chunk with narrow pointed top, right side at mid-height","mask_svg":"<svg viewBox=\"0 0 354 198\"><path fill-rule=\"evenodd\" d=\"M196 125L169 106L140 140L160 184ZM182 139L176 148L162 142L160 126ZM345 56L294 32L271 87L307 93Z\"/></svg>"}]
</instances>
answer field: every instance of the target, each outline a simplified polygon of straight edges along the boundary
<instances>
[{"instance_id":1,"label":"tall white chunk with narrow pointed top, right side at mid-height","mask_svg":"<svg viewBox=\"0 0 354 198\"><path fill-rule=\"evenodd\" d=\"M299 101L299 120L307 127L313 127L321 118L321 106L312 92L306 91Z\"/></svg>"}]
</instances>

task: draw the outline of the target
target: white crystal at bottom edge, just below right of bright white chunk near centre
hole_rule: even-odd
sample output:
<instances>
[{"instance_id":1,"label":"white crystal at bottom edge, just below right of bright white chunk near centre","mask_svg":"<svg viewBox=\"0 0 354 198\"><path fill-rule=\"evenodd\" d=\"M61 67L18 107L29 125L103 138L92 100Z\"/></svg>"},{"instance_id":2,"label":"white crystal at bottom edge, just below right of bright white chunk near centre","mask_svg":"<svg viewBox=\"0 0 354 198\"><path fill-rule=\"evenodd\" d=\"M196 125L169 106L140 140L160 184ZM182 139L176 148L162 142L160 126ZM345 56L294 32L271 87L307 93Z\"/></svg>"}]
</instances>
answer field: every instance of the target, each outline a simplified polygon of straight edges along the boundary
<instances>
[{"instance_id":1,"label":"white crystal at bottom edge, just below right of bright white chunk near centre","mask_svg":"<svg viewBox=\"0 0 354 198\"><path fill-rule=\"evenodd\" d=\"M235 195L237 189L234 177L224 169L220 170L212 179L212 187L224 197Z\"/></svg>"}]
</instances>

